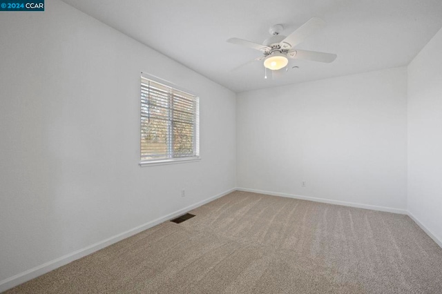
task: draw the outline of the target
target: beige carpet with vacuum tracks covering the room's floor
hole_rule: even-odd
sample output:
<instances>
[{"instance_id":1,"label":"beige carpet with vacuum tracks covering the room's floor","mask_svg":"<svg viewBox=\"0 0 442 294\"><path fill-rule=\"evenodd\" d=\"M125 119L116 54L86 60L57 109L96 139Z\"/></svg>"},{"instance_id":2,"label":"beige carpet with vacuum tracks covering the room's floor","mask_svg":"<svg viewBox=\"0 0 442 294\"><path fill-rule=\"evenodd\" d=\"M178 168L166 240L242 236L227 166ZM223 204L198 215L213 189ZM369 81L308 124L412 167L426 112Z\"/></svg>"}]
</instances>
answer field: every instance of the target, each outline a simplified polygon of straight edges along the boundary
<instances>
[{"instance_id":1,"label":"beige carpet with vacuum tracks covering the room's floor","mask_svg":"<svg viewBox=\"0 0 442 294\"><path fill-rule=\"evenodd\" d=\"M410 217L234 192L8 293L442 293Z\"/></svg>"}]
</instances>

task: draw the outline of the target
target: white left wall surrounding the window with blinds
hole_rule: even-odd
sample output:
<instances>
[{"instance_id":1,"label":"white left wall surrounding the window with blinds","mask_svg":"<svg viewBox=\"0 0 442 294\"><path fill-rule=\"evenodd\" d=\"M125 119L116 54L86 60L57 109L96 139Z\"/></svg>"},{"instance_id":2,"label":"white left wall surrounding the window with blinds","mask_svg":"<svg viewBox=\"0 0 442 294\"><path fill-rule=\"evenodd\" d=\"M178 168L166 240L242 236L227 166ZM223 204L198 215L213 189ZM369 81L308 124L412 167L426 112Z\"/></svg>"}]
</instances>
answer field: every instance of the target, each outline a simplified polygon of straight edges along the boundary
<instances>
[{"instance_id":1,"label":"white left wall surrounding the window with blinds","mask_svg":"<svg viewBox=\"0 0 442 294\"><path fill-rule=\"evenodd\" d=\"M236 186L235 93L61 1L0 13L3 289ZM138 166L140 72L200 96L201 161Z\"/></svg>"}]
</instances>

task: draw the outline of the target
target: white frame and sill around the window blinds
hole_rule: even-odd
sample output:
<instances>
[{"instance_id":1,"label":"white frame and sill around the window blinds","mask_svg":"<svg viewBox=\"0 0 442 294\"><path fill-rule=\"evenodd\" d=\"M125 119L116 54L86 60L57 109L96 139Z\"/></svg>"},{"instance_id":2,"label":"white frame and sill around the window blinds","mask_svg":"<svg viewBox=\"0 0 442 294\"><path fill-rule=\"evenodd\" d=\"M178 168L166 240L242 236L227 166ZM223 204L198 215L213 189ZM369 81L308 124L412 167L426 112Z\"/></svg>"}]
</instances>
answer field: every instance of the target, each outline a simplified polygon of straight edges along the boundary
<instances>
[{"instance_id":1,"label":"white frame and sill around the window blinds","mask_svg":"<svg viewBox=\"0 0 442 294\"><path fill-rule=\"evenodd\" d=\"M145 72L141 73L140 77L140 91L141 91L141 83L142 79L148 79L151 80L157 84L162 84L168 88L171 88L172 90L177 90L180 92L184 92L188 95L192 95L195 97L195 125L193 128L193 148L195 148L195 155L193 156L184 156L184 157L168 157L168 158L160 158L160 159L148 159L144 160L142 159L142 99L141 99L141 92L140 92L140 166L158 166L158 165L164 165L164 164L183 164L186 162L195 162L200 161L200 97L198 95L195 95L194 92L186 90L180 86L177 86L176 84L171 83L170 81L166 81L164 79L161 79L159 77L155 77L153 75L146 74ZM171 130L168 131L168 136L171 136ZM168 149L171 150L172 148L172 141L169 141L170 144L168 145Z\"/></svg>"}]
</instances>

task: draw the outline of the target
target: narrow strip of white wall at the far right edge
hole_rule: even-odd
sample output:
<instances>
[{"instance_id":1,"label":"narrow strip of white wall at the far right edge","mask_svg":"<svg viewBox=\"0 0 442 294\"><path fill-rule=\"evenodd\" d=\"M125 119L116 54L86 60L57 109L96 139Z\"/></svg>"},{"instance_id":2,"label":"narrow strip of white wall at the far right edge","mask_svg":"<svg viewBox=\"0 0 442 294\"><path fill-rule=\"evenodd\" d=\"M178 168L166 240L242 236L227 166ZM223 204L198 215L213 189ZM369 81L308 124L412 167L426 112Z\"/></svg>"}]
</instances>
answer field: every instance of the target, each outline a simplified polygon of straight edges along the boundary
<instances>
[{"instance_id":1,"label":"narrow strip of white wall at the far right edge","mask_svg":"<svg viewBox=\"0 0 442 294\"><path fill-rule=\"evenodd\" d=\"M408 210L442 246L442 30L408 66Z\"/></svg>"}]
</instances>

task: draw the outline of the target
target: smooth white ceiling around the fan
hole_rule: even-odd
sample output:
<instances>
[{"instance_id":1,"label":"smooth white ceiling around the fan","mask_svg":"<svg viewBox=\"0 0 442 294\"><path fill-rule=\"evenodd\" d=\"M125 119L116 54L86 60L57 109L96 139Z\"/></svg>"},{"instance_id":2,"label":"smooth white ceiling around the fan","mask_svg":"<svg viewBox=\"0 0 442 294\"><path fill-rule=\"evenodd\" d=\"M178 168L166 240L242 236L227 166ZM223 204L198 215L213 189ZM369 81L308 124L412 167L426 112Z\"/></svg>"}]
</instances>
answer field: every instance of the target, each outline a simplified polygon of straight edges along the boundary
<instances>
[{"instance_id":1,"label":"smooth white ceiling around the fan","mask_svg":"<svg viewBox=\"0 0 442 294\"><path fill-rule=\"evenodd\" d=\"M405 66L442 27L442 0L63 0L235 92ZM311 17L327 27L296 48L336 53L333 63L291 60L276 80L264 79L258 50L281 23L288 35Z\"/></svg>"}]
</instances>

